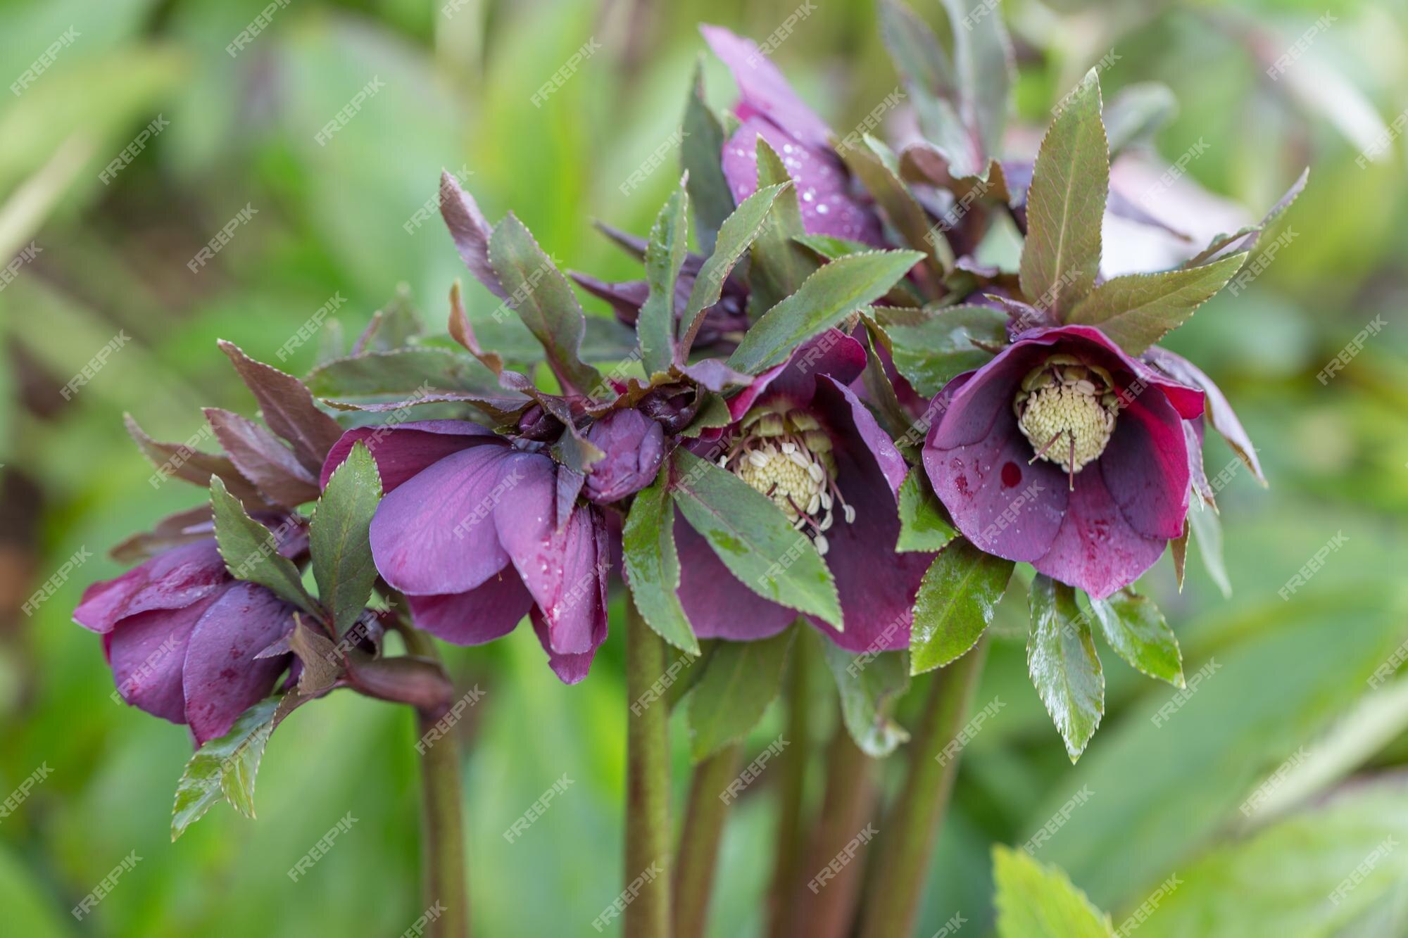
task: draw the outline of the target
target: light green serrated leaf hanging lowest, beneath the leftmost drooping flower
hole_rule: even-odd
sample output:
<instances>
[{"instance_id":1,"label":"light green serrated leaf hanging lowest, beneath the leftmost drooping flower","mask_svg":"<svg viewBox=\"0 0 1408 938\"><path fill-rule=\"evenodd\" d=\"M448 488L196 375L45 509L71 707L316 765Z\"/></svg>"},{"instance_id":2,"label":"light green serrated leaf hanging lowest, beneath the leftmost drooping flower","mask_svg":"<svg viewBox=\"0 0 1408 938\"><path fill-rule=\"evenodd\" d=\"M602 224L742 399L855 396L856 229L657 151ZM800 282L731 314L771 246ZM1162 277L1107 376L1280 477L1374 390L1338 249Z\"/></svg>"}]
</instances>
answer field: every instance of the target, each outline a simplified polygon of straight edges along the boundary
<instances>
[{"instance_id":1,"label":"light green serrated leaf hanging lowest, beneath the leftmost drooping flower","mask_svg":"<svg viewBox=\"0 0 1408 938\"><path fill-rule=\"evenodd\" d=\"M245 817L255 815L255 776L273 732L279 697L260 700L239 714L230 732L210 739L186 763L176 783L172 839L199 821L221 796Z\"/></svg>"}]
</instances>

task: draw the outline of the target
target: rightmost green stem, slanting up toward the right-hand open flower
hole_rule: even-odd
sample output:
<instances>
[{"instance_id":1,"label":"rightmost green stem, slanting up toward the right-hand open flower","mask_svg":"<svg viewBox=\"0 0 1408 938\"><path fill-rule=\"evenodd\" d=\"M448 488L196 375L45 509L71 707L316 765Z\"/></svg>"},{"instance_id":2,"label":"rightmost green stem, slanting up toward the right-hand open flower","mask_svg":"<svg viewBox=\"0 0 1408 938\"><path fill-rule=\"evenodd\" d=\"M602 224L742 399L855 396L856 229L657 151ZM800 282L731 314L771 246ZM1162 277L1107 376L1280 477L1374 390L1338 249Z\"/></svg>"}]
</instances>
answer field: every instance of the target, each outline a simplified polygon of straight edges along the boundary
<instances>
[{"instance_id":1,"label":"rightmost green stem, slanting up toward the right-hand open flower","mask_svg":"<svg viewBox=\"0 0 1408 938\"><path fill-rule=\"evenodd\" d=\"M886 818L879 865L866 897L862 938L905 938L929 869L929 856L943 825L953 793L957 759L939 763L943 748L957 737L977 690L977 677L987 656L987 642L979 645L934 676L919 727L910 742L910 772L904 789Z\"/></svg>"}]
</instances>

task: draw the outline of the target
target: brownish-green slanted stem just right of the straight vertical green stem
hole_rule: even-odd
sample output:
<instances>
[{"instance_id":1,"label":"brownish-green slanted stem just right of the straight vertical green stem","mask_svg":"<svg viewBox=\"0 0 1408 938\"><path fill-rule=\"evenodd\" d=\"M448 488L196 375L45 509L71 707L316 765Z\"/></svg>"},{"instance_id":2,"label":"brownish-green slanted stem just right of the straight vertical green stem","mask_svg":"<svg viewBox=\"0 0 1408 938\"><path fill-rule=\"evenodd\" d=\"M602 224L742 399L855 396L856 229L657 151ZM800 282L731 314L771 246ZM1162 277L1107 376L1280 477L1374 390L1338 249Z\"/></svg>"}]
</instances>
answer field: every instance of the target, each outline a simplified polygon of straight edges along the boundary
<instances>
[{"instance_id":1,"label":"brownish-green slanted stem just right of the straight vertical green stem","mask_svg":"<svg viewBox=\"0 0 1408 938\"><path fill-rule=\"evenodd\" d=\"M738 775L742 752L743 745L734 742L694 766L674 861L674 938L700 938L704 934L708 900L714 892L714 869L718 865L718 842L724 835L724 818L728 817L729 803L722 796Z\"/></svg>"}]
</instances>

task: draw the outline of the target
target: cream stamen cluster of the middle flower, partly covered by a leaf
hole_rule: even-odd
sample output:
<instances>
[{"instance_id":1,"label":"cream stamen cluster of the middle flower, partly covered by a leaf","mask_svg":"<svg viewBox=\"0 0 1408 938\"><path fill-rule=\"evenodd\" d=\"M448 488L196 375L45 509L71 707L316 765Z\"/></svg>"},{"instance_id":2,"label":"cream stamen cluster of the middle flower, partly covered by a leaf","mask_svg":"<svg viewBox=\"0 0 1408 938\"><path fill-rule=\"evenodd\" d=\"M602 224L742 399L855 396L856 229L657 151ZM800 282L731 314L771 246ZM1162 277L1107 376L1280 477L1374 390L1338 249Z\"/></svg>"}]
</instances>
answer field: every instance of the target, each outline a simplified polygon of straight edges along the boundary
<instances>
[{"instance_id":1,"label":"cream stamen cluster of the middle flower, partly covered by a leaf","mask_svg":"<svg viewBox=\"0 0 1408 938\"><path fill-rule=\"evenodd\" d=\"M846 524L856 517L836 487L831 437L815 417L783 399L743 415L742 432L718 465L772 499L819 554L828 548L834 506L841 506Z\"/></svg>"}]
</instances>

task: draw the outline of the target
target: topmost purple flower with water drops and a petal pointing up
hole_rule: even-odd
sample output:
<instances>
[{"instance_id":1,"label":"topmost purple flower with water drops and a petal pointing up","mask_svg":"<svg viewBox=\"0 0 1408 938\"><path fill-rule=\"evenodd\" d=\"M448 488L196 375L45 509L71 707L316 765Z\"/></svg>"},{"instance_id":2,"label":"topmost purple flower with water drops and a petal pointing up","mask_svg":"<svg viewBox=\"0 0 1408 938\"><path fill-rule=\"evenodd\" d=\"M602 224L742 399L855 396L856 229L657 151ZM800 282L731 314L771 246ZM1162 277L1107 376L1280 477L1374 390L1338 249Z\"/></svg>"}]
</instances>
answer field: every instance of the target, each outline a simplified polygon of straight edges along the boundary
<instances>
[{"instance_id":1,"label":"topmost purple flower with water drops and a petal pointing up","mask_svg":"<svg viewBox=\"0 0 1408 938\"><path fill-rule=\"evenodd\" d=\"M715 25L700 31L738 83L742 125L724 144L724 177L738 201L758 190L758 138L781 158L797 183L807 234L881 245L880 223L850 192L850 175L831 146L831 128L803 103L752 41Z\"/></svg>"}]
</instances>

